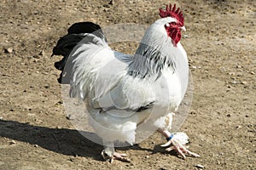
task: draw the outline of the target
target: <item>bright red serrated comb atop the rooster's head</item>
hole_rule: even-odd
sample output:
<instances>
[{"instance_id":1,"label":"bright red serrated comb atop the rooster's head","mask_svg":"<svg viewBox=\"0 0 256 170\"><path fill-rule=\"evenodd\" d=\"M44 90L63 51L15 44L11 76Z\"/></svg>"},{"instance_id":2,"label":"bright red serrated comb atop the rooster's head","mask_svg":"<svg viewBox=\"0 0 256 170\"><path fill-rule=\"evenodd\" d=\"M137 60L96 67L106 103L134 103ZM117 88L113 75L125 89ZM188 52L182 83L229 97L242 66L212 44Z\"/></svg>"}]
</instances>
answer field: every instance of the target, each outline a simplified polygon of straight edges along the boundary
<instances>
[{"instance_id":1,"label":"bright red serrated comb atop the rooster's head","mask_svg":"<svg viewBox=\"0 0 256 170\"><path fill-rule=\"evenodd\" d=\"M184 25L184 18L183 18L183 13L182 11L179 11L179 8L176 10L176 4L174 3L173 8L172 4L166 5L166 10L160 8L160 17L161 18L166 18L168 16L171 16L172 18L175 18L180 22L180 24L183 26Z\"/></svg>"}]
</instances>

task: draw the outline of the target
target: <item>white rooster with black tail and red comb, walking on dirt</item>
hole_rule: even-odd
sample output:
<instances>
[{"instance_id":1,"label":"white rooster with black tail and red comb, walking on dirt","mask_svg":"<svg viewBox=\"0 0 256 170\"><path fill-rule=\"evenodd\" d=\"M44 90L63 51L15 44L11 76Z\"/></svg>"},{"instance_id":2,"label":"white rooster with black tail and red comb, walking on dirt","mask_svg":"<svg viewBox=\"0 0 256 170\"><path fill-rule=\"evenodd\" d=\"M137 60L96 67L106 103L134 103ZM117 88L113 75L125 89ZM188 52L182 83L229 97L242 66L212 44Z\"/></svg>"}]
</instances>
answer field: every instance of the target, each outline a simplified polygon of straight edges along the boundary
<instances>
[{"instance_id":1,"label":"white rooster with black tail and red comb, walking on dirt","mask_svg":"<svg viewBox=\"0 0 256 170\"><path fill-rule=\"evenodd\" d=\"M199 156L183 145L185 134L183 142L170 130L189 81L187 54L179 42L186 31L183 13L170 4L160 8L160 17L133 55L110 48L101 27L92 22L74 24L53 48L53 55L63 56L55 62L61 70L58 81L70 84L70 96L84 101L105 160L130 161L114 144L134 144L137 127L144 122L163 134L166 150L176 150L183 158Z\"/></svg>"}]
</instances>

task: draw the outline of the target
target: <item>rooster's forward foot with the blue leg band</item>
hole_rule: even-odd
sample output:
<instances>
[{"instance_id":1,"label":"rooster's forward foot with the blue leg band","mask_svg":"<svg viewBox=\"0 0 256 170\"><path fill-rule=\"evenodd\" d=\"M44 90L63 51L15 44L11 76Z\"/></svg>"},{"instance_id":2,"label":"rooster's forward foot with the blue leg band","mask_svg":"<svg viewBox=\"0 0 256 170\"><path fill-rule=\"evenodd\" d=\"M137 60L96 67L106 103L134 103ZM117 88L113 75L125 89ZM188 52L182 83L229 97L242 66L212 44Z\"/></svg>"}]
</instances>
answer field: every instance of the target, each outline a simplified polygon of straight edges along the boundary
<instances>
[{"instance_id":1,"label":"rooster's forward foot with the blue leg band","mask_svg":"<svg viewBox=\"0 0 256 170\"><path fill-rule=\"evenodd\" d=\"M162 144L161 146L162 147L166 147L166 146L170 146L171 145L169 148L166 149L167 151L176 150L177 154L182 156L183 159L186 158L185 155L199 157L198 154L195 154L194 152L189 151L177 139L173 139L172 138L173 135L169 131L163 130L163 129L158 129L158 132L162 133L166 137L166 139L167 139L166 144Z\"/></svg>"}]
</instances>

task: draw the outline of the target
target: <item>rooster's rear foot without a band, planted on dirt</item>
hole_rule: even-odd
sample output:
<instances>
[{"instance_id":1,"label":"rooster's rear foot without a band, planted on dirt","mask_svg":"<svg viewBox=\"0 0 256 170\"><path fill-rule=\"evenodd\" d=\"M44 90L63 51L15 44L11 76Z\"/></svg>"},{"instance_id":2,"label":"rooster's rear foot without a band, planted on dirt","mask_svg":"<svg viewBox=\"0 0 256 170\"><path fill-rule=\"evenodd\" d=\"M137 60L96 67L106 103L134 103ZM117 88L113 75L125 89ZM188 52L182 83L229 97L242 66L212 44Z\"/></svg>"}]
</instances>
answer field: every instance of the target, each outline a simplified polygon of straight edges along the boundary
<instances>
[{"instance_id":1,"label":"rooster's rear foot without a band, planted on dirt","mask_svg":"<svg viewBox=\"0 0 256 170\"><path fill-rule=\"evenodd\" d=\"M104 160L111 163L113 163L113 160L130 162L125 154L120 154L114 150L113 143L108 143L108 145L105 146L105 149L102 150L102 157Z\"/></svg>"}]
</instances>

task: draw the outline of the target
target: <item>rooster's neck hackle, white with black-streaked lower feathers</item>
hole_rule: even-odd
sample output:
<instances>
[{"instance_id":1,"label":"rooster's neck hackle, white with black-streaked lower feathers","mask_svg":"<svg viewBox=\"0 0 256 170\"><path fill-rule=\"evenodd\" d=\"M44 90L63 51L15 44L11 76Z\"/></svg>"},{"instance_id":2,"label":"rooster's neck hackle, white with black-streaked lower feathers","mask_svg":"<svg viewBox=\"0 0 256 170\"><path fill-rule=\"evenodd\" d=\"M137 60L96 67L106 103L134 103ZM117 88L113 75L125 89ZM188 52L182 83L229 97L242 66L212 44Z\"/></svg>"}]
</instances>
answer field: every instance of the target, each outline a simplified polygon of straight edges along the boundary
<instances>
[{"instance_id":1,"label":"rooster's neck hackle, white with black-streaked lower feathers","mask_svg":"<svg viewBox=\"0 0 256 170\"><path fill-rule=\"evenodd\" d=\"M172 48L175 47L171 38L167 37L166 31L150 26L131 60L128 73L133 77L157 79L166 68L174 71Z\"/></svg>"}]
</instances>

